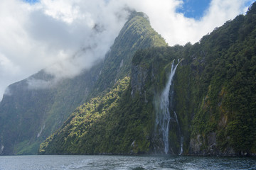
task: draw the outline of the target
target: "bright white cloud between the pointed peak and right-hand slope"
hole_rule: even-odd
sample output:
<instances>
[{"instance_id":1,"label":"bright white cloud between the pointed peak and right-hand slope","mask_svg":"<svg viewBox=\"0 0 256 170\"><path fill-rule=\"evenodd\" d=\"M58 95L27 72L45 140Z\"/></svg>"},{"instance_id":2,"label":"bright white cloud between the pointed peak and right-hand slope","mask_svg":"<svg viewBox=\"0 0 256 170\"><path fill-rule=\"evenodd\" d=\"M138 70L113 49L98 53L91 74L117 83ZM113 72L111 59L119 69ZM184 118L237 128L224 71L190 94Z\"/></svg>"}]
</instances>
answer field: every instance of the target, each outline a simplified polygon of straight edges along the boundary
<instances>
[{"instance_id":1,"label":"bright white cloud between the pointed peak and right-hand slope","mask_svg":"<svg viewBox=\"0 0 256 170\"><path fill-rule=\"evenodd\" d=\"M183 4L180 0L139 2L127 0L126 3L137 11L146 13L150 18L151 26L166 39L169 45L184 45L186 42L197 42L215 27L222 26L225 21L244 13L247 1L249 0L212 0L210 7L199 21L186 18L182 13L176 13L176 8Z\"/></svg>"}]
</instances>

